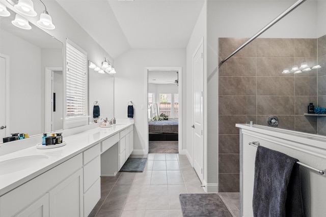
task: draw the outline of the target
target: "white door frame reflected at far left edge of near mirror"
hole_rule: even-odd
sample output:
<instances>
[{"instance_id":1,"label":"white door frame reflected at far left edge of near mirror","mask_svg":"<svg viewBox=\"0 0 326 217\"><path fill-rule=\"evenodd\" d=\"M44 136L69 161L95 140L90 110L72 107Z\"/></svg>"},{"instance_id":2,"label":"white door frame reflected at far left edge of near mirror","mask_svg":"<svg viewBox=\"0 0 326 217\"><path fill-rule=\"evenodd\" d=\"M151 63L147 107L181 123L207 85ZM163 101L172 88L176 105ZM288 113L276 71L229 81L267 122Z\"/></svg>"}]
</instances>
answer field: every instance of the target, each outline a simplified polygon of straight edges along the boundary
<instances>
[{"instance_id":1,"label":"white door frame reflected at far left edge of near mirror","mask_svg":"<svg viewBox=\"0 0 326 217\"><path fill-rule=\"evenodd\" d=\"M5 72L5 76L6 76L6 93L5 93L5 104L6 104L6 114L5 114L5 123L6 123L6 128L5 128L5 135L9 136L9 132L10 132L10 94L9 94L9 90L10 90L10 56L7 56L3 53L0 53L0 56L6 59L6 72ZM2 142L1 142L2 143Z\"/></svg>"}]
</instances>

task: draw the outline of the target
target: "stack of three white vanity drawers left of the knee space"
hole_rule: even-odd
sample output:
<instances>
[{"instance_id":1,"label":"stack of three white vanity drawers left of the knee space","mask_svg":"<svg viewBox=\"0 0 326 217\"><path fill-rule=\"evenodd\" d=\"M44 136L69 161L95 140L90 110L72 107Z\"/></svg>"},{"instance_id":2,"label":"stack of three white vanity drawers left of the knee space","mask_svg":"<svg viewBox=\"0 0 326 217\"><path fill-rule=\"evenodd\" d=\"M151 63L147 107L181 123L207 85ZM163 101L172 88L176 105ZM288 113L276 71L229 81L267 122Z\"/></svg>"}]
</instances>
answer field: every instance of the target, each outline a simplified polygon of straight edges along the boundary
<instances>
[{"instance_id":1,"label":"stack of three white vanity drawers left of the knee space","mask_svg":"<svg viewBox=\"0 0 326 217\"><path fill-rule=\"evenodd\" d=\"M84 157L84 216L88 216L101 198L101 145L83 152Z\"/></svg>"}]
</instances>

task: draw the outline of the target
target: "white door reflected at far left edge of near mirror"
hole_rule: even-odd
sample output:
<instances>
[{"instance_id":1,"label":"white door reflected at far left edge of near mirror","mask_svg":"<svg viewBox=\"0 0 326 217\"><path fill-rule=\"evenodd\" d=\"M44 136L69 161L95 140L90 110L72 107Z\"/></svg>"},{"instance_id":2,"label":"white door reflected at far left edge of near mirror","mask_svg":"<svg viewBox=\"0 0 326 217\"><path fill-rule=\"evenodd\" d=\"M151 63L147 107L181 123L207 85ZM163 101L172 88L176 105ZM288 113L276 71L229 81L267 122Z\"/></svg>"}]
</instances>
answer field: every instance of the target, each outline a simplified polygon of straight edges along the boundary
<instances>
[{"instance_id":1,"label":"white door reflected at far left edge of near mirror","mask_svg":"<svg viewBox=\"0 0 326 217\"><path fill-rule=\"evenodd\" d=\"M0 56L0 143L4 137L6 137L6 58Z\"/></svg>"}]
</instances>

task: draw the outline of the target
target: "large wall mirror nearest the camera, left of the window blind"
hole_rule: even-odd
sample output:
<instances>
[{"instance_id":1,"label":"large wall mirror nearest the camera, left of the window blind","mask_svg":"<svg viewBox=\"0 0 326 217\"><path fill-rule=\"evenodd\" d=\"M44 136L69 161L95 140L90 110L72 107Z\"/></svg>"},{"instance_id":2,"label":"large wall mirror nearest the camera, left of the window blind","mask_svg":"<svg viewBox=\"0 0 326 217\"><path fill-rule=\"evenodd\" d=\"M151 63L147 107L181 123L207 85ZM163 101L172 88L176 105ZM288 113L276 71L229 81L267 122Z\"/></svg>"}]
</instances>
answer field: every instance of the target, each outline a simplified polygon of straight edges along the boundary
<instances>
[{"instance_id":1,"label":"large wall mirror nearest the camera, left of the window blind","mask_svg":"<svg viewBox=\"0 0 326 217\"><path fill-rule=\"evenodd\" d=\"M9 11L0 17L0 86L6 90L0 126L7 126L0 136L62 130L63 44L32 23L29 30L14 26L16 13Z\"/></svg>"}]
</instances>

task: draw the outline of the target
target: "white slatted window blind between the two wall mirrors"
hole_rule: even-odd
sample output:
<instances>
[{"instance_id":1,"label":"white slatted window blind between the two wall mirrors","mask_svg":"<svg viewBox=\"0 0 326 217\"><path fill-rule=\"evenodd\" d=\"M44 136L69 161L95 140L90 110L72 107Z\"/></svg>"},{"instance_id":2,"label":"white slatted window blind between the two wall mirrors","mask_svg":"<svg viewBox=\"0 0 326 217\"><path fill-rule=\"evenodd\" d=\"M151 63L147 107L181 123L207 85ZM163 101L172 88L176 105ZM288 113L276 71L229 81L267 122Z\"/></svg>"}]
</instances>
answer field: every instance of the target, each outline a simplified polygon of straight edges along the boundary
<instances>
[{"instance_id":1,"label":"white slatted window blind between the two wall mirrors","mask_svg":"<svg viewBox=\"0 0 326 217\"><path fill-rule=\"evenodd\" d=\"M87 115L87 53L67 40L67 117Z\"/></svg>"}]
</instances>

